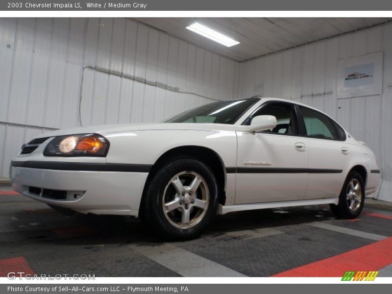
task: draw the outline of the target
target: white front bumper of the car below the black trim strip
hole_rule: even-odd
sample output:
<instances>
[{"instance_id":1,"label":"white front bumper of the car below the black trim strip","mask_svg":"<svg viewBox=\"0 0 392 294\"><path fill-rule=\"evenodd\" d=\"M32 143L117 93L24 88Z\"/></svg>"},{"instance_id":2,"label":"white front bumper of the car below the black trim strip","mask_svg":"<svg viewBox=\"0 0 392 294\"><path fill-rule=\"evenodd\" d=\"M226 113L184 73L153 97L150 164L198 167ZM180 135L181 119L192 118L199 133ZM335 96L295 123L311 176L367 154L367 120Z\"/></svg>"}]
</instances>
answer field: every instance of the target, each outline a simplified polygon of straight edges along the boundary
<instances>
[{"instance_id":1,"label":"white front bumper of the car below the black trim strip","mask_svg":"<svg viewBox=\"0 0 392 294\"><path fill-rule=\"evenodd\" d=\"M138 216L147 176L148 172L10 167L11 184L15 191L47 204L94 214ZM67 196L55 199L30 187L34 187L35 191L65 191Z\"/></svg>"}]
</instances>

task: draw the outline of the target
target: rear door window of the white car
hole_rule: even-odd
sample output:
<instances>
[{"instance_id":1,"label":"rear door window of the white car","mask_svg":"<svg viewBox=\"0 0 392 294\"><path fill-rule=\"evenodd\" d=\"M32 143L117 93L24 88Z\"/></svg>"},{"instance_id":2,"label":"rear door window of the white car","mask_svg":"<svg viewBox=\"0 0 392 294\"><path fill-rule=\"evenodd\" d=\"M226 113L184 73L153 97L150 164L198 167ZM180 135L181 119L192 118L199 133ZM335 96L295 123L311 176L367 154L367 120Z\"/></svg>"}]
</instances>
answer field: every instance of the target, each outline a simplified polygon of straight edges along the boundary
<instances>
[{"instance_id":1,"label":"rear door window of the white car","mask_svg":"<svg viewBox=\"0 0 392 294\"><path fill-rule=\"evenodd\" d=\"M302 112L308 137L329 140L342 139L337 133L337 128L327 116L307 107L299 106L299 109Z\"/></svg>"}]
</instances>

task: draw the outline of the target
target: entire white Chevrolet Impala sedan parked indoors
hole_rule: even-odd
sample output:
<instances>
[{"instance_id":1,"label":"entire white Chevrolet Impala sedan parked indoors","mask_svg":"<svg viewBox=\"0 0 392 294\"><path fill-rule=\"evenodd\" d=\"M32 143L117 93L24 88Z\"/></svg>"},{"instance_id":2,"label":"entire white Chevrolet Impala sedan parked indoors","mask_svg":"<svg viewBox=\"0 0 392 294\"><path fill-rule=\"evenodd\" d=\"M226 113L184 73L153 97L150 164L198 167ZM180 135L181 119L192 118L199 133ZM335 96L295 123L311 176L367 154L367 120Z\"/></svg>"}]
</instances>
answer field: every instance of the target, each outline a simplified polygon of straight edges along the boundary
<instances>
[{"instance_id":1,"label":"entire white Chevrolet Impala sedan parked indoors","mask_svg":"<svg viewBox=\"0 0 392 294\"><path fill-rule=\"evenodd\" d=\"M240 210L328 203L355 218L380 181L373 152L333 119L259 97L165 123L43 134L22 147L10 174L16 191L54 208L139 216L177 239Z\"/></svg>"}]
</instances>

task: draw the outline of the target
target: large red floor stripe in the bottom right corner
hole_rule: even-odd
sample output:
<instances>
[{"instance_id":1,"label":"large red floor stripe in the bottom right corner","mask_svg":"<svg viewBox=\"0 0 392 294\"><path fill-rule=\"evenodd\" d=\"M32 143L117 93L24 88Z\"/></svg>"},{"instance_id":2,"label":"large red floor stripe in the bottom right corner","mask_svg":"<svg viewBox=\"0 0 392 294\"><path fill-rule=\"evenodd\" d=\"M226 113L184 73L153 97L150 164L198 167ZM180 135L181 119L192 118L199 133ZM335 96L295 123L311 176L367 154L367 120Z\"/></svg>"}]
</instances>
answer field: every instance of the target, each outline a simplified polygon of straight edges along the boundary
<instances>
[{"instance_id":1,"label":"large red floor stripe in the bottom right corner","mask_svg":"<svg viewBox=\"0 0 392 294\"><path fill-rule=\"evenodd\" d=\"M346 270L380 270L392 263L391 248L392 237L273 276L343 277Z\"/></svg>"}]
</instances>

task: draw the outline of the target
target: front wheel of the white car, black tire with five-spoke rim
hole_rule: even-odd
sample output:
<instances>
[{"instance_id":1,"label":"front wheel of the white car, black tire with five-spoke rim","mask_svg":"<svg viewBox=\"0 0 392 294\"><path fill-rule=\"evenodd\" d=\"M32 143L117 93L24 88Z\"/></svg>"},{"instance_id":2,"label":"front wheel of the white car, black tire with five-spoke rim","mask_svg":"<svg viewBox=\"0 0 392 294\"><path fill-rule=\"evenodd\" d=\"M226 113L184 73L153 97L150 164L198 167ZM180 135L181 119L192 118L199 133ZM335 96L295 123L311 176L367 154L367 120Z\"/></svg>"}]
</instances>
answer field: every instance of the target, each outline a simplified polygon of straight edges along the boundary
<instances>
[{"instance_id":1,"label":"front wheel of the white car, black tire with five-spoke rim","mask_svg":"<svg viewBox=\"0 0 392 294\"><path fill-rule=\"evenodd\" d=\"M164 163L147 183L140 219L167 240L198 236L218 209L218 183L214 173L193 157Z\"/></svg>"}]
</instances>

